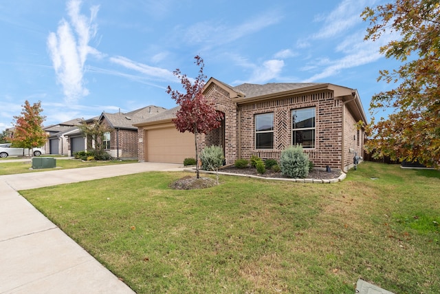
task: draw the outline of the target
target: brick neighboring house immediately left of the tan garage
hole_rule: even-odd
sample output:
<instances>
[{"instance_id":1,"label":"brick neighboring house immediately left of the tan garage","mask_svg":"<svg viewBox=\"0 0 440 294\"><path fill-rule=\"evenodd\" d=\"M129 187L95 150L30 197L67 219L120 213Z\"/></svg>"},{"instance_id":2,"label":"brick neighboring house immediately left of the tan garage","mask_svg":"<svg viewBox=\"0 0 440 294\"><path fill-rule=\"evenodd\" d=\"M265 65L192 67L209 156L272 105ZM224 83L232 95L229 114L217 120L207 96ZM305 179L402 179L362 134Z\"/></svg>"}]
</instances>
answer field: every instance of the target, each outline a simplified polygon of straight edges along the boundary
<instances>
[{"instance_id":1,"label":"brick neighboring house immediately left of the tan garage","mask_svg":"<svg viewBox=\"0 0 440 294\"><path fill-rule=\"evenodd\" d=\"M102 112L98 122L111 129L111 132L104 134L103 149L115 158L137 158L137 127L133 124L140 123L165 110L164 107L149 105L126 113Z\"/></svg>"}]
</instances>

